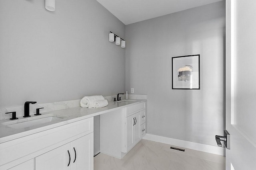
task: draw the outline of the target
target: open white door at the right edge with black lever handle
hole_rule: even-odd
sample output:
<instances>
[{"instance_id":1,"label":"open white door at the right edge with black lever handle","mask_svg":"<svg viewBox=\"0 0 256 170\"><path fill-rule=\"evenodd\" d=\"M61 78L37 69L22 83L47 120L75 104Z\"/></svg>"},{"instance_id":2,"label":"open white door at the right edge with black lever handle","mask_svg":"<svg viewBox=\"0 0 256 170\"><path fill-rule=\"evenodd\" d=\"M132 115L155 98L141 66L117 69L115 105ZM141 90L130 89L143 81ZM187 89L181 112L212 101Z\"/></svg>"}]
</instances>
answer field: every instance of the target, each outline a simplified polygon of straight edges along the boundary
<instances>
[{"instance_id":1,"label":"open white door at the right edge with black lever handle","mask_svg":"<svg viewBox=\"0 0 256 170\"><path fill-rule=\"evenodd\" d=\"M226 170L256 169L256 0L226 0Z\"/></svg>"}]
</instances>

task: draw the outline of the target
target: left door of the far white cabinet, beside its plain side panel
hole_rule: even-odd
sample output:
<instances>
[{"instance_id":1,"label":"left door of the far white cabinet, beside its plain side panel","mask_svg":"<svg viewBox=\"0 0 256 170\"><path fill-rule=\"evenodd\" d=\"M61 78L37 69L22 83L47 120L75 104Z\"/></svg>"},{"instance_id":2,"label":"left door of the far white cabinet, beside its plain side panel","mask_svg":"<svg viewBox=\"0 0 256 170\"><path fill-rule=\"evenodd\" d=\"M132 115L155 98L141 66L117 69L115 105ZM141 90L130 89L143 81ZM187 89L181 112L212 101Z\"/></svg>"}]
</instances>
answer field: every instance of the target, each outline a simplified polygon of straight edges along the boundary
<instances>
[{"instance_id":1,"label":"left door of the far white cabinet, beside its plain side panel","mask_svg":"<svg viewBox=\"0 0 256 170\"><path fill-rule=\"evenodd\" d=\"M126 117L126 139L125 139L125 151L128 152L134 145L133 140L133 126L135 123L134 115Z\"/></svg>"}]
</instances>

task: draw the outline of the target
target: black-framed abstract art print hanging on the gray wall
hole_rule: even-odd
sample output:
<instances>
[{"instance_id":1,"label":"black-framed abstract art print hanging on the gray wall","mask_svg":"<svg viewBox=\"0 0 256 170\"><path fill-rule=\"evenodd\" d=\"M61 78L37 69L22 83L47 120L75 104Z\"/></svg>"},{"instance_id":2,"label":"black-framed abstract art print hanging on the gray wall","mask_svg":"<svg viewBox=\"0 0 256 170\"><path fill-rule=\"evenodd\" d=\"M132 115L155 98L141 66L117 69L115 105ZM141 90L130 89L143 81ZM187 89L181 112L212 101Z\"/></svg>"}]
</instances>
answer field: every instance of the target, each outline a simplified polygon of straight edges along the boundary
<instances>
[{"instance_id":1,"label":"black-framed abstract art print hanging on the gray wall","mask_svg":"<svg viewBox=\"0 0 256 170\"><path fill-rule=\"evenodd\" d=\"M200 89L200 54L172 57L172 89Z\"/></svg>"}]
</instances>

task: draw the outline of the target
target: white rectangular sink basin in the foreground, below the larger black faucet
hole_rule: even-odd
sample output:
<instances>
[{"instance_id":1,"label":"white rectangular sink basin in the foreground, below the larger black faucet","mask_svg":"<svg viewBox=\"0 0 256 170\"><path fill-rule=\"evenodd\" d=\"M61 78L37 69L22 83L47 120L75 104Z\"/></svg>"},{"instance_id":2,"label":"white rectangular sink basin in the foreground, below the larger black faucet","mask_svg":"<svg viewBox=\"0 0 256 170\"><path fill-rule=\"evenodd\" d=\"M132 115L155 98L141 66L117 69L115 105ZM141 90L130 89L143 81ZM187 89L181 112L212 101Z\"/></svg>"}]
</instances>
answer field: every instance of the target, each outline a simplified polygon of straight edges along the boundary
<instances>
[{"instance_id":1,"label":"white rectangular sink basin in the foreground, below the larger black faucet","mask_svg":"<svg viewBox=\"0 0 256 170\"><path fill-rule=\"evenodd\" d=\"M20 128L30 127L30 126L39 125L42 123L48 123L52 121L61 121L65 117L68 117L68 116L48 114L48 115L41 115L41 116L30 117L30 118L20 119L20 120L16 119L14 121L8 121L1 124L8 127L12 127L14 129L20 129Z\"/></svg>"}]
</instances>

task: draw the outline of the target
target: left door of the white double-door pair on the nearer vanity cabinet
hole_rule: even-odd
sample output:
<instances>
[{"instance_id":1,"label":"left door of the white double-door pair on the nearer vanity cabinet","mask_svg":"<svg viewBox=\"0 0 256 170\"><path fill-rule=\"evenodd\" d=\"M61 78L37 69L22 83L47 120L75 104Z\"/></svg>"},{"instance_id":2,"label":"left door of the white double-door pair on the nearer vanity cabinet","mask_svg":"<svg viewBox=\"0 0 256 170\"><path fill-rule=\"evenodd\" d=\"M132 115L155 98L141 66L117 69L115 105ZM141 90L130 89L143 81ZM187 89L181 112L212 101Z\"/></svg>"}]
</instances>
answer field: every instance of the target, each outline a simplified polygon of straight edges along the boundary
<instances>
[{"instance_id":1,"label":"left door of the white double-door pair on the nearer vanity cabinet","mask_svg":"<svg viewBox=\"0 0 256 170\"><path fill-rule=\"evenodd\" d=\"M36 170L71 170L70 143L36 157ZM68 154L70 153L70 156ZM68 163L70 164L68 165Z\"/></svg>"}]
</instances>

